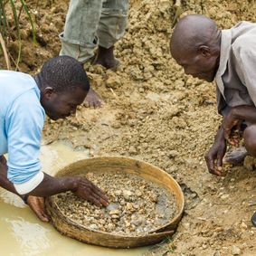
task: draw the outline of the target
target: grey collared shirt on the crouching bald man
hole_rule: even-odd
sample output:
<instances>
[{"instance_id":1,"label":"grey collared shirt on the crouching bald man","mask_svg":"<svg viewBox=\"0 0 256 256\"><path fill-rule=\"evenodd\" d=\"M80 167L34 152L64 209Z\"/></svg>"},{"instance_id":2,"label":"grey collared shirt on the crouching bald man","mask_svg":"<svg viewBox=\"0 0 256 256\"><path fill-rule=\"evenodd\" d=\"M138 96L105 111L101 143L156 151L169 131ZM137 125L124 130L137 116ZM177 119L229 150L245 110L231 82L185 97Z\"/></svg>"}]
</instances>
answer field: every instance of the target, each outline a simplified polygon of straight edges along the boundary
<instances>
[{"instance_id":1,"label":"grey collared shirt on the crouching bald man","mask_svg":"<svg viewBox=\"0 0 256 256\"><path fill-rule=\"evenodd\" d=\"M256 24L241 22L222 31L216 73L218 110L256 106Z\"/></svg>"}]
</instances>

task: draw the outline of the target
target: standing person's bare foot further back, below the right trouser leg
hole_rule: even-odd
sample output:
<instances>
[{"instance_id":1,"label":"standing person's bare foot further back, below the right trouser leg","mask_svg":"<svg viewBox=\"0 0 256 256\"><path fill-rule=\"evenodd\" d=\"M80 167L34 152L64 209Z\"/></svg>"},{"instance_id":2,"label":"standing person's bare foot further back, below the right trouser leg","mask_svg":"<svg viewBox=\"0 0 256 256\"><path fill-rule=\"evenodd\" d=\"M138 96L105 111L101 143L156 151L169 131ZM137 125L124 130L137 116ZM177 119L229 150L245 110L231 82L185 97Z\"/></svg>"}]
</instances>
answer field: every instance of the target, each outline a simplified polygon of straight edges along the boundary
<instances>
[{"instance_id":1,"label":"standing person's bare foot further back, below the right trouser leg","mask_svg":"<svg viewBox=\"0 0 256 256\"><path fill-rule=\"evenodd\" d=\"M120 62L114 56L114 46L110 47L109 49L99 46L93 64L100 64L106 69L116 70Z\"/></svg>"}]
</instances>

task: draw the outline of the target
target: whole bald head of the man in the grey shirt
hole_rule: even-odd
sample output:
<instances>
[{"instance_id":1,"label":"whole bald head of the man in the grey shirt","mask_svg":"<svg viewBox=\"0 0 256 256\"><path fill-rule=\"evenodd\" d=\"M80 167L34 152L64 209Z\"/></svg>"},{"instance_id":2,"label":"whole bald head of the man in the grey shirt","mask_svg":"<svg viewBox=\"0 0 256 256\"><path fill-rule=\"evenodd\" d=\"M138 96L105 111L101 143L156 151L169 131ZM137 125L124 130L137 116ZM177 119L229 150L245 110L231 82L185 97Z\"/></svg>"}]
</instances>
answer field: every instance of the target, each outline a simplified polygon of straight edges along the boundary
<instances>
[{"instance_id":1,"label":"whole bald head of the man in the grey shirt","mask_svg":"<svg viewBox=\"0 0 256 256\"><path fill-rule=\"evenodd\" d=\"M221 31L213 20L200 14L186 15L175 25L170 47L186 74L213 81L221 48Z\"/></svg>"}]
</instances>

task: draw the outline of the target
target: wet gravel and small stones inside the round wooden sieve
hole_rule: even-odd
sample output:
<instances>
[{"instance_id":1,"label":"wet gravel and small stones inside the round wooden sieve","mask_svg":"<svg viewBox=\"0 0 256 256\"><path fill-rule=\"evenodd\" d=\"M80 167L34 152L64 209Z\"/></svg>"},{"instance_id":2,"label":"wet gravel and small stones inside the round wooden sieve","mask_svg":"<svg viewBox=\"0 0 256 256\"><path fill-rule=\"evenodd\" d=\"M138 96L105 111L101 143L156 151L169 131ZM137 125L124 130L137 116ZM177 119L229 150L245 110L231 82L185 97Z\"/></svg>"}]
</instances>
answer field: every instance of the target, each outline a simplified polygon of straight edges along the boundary
<instances>
[{"instance_id":1,"label":"wet gravel and small stones inside the round wooden sieve","mask_svg":"<svg viewBox=\"0 0 256 256\"><path fill-rule=\"evenodd\" d=\"M90 204L71 192L54 195L54 200L68 218L91 230L143 235L163 227L177 213L174 194L137 175L91 172L86 177L108 195L108 207Z\"/></svg>"}]
</instances>

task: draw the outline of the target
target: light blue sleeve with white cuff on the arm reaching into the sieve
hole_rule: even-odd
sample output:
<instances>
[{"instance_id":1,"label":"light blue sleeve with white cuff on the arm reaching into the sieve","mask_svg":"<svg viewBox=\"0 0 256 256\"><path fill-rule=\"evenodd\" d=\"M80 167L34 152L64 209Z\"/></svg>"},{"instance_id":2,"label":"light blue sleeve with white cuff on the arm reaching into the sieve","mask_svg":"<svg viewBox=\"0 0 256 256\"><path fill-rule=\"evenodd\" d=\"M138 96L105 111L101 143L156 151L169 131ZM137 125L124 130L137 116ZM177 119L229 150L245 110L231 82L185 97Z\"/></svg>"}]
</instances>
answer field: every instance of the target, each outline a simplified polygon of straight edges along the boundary
<instances>
[{"instance_id":1,"label":"light blue sleeve with white cuff on the arm reaching into the sieve","mask_svg":"<svg viewBox=\"0 0 256 256\"><path fill-rule=\"evenodd\" d=\"M22 185L37 175L40 178L33 179L33 185L28 186L30 191L43 180L38 174L41 172L39 155L44 118L44 110L34 90L28 90L15 99L5 117L7 177L14 185Z\"/></svg>"}]
</instances>

